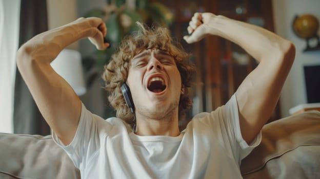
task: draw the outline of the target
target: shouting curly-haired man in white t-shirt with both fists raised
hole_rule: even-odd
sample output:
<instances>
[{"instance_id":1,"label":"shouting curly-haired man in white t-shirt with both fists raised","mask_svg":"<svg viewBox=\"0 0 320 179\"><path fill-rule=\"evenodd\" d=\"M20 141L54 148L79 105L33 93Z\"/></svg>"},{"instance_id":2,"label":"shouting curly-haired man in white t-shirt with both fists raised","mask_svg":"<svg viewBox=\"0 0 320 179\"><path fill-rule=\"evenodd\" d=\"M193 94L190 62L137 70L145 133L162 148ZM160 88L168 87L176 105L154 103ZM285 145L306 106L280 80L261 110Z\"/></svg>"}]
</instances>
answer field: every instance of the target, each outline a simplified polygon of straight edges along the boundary
<instances>
[{"instance_id":1,"label":"shouting curly-haired man in white t-shirt with both fists raised","mask_svg":"<svg viewBox=\"0 0 320 179\"><path fill-rule=\"evenodd\" d=\"M91 114L50 66L62 49L81 38L106 49L101 19L77 19L35 36L18 50L18 68L56 143L83 178L241 178L241 160L259 144L259 131L293 63L293 44L253 25L195 13L191 35L184 37L188 43L218 35L260 62L226 105L196 115L179 131L179 113L190 105L187 54L173 45L167 30L141 29L123 41L106 67L109 101L118 117L106 121ZM124 84L131 90L131 109L122 94Z\"/></svg>"}]
</instances>

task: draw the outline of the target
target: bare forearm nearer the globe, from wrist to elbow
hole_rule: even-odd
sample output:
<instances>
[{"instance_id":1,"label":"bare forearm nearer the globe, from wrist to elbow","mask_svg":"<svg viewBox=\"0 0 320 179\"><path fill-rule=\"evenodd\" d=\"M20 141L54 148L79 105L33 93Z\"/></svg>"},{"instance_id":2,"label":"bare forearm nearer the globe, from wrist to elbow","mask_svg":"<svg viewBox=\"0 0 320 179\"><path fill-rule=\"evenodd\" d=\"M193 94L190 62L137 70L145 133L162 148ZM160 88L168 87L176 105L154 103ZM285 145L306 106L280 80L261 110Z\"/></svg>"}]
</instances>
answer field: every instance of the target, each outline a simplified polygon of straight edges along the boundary
<instances>
[{"instance_id":1,"label":"bare forearm nearer the globe, from wrist to elbow","mask_svg":"<svg viewBox=\"0 0 320 179\"><path fill-rule=\"evenodd\" d=\"M212 17L208 27L210 34L221 36L238 44L258 61L270 55L281 57L291 46L290 41L266 29L224 16ZM276 60L277 58L271 59Z\"/></svg>"}]
</instances>

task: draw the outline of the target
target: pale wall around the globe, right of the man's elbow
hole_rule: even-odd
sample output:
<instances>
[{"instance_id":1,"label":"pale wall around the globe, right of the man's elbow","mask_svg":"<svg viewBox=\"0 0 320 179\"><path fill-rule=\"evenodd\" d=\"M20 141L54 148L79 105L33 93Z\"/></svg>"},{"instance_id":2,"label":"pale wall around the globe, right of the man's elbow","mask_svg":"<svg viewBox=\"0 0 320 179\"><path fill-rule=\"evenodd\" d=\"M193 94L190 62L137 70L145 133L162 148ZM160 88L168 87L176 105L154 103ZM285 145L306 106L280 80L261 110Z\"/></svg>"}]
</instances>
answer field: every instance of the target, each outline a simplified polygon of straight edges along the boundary
<instances>
[{"instance_id":1,"label":"pale wall around the globe, right of the man's elbow","mask_svg":"<svg viewBox=\"0 0 320 179\"><path fill-rule=\"evenodd\" d=\"M295 15L310 13L320 21L319 9L319 0L273 0L275 32L292 41L296 47L295 61L281 95L283 117L289 116L291 107L307 103L303 66L320 64L320 51L303 53L306 42L294 34L292 20Z\"/></svg>"}]
</instances>

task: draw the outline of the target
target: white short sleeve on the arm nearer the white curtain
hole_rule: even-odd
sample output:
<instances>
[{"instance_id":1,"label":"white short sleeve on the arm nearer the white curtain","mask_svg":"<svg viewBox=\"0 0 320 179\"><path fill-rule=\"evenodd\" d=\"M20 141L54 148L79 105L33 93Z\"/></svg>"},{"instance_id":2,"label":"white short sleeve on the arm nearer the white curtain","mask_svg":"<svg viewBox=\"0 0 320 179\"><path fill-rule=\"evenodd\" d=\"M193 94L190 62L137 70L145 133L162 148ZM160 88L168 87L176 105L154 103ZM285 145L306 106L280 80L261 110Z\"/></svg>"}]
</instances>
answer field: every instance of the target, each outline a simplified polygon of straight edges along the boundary
<instances>
[{"instance_id":1,"label":"white short sleeve on the arm nearer the white curtain","mask_svg":"<svg viewBox=\"0 0 320 179\"><path fill-rule=\"evenodd\" d=\"M108 128L108 124L101 117L92 114L82 103L78 127L72 142L65 146L53 131L52 138L66 151L74 165L82 168L100 147L98 127Z\"/></svg>"}]
</instances>

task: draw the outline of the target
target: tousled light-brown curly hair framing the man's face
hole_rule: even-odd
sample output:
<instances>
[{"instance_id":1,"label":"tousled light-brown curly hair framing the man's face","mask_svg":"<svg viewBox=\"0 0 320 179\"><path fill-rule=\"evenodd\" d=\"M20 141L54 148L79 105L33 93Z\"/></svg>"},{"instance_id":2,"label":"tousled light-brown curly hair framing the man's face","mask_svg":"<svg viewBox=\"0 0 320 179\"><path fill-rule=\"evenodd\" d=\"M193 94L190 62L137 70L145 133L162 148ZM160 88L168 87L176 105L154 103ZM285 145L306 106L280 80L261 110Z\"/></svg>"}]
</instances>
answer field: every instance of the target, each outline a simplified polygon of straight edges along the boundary
<instances>
[{"instance_id":1,"label":"tousled light-brown curly hair framing the man's face","mask_svg":"<svg viewBox=\"0 0 320 179\"><path fill-rule=\"evenodd\" d=\"M105 89L109 92L108 100L116 110L116 117L132 124L133 116L127 107L121 86L128 78L130 60L146 49L158 49L167 52L175 59L177 69L181 75L182 86L185 93L180 96L179 115L185 113L192 105L189 98L188 87L194 72L194 65L189 63L190 54L185 52L181 44L170 37L167 28L148 28L137 22L139 30L131 36L126 36L116 52L111 56L110 62L105 65L103 79L106 82Z\"/></svg>"}]
</instances>

